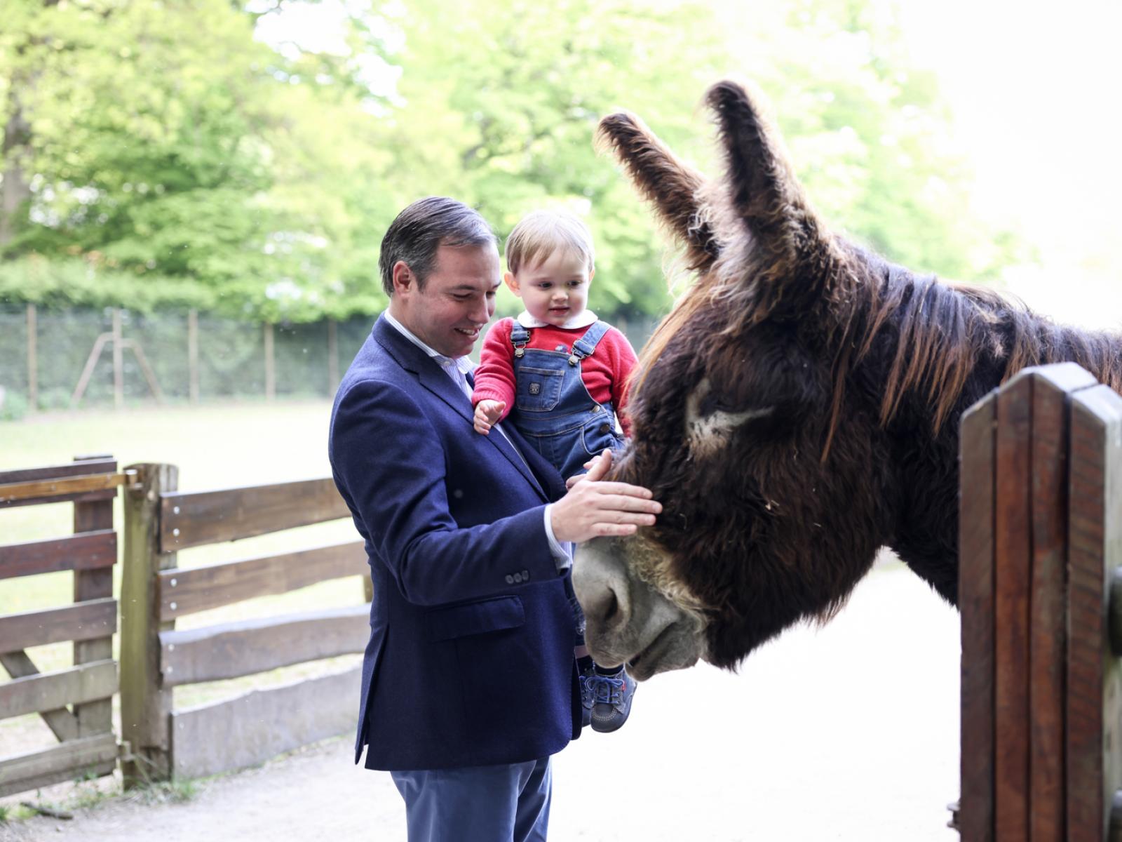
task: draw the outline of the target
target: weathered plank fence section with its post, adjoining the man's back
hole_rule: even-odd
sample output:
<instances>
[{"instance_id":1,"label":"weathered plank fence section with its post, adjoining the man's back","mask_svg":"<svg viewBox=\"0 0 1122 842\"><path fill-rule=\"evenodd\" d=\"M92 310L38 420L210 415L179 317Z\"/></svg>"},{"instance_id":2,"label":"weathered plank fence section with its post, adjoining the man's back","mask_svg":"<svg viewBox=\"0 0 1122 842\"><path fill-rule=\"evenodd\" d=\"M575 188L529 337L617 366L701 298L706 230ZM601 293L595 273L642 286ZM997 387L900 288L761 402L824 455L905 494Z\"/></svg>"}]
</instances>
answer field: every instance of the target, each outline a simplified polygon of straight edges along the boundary
<instances>
[{"instance_id":1,"label":"weathered plank fence section with its post, adjoining the man's back","mask_svg":"<svg viewBox=\"0 0 1122 842\"><path fill-rule=\"evenodd\" d=\"M176 492L171 465L134 466L126 495L121 713L127 780L212 775L355 727L359 668L176 710L173 688L361 652L369 606L176 630L177 617L366 573L361 541L180 568L176 552L349 518L331 479ZM365 579L366 580L366 579ZM367 592L369 600L369 592Z\"/></svg>"}]
</instances>

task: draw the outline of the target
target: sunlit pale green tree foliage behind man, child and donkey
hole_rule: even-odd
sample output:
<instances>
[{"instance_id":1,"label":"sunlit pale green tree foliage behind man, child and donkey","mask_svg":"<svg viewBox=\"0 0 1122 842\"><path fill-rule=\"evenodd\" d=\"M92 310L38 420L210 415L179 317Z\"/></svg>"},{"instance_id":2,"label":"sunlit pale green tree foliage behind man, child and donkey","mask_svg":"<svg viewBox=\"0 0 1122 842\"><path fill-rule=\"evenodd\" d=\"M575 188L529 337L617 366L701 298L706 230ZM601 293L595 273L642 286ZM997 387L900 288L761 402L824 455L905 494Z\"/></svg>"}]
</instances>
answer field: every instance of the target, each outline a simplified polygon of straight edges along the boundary
<instances>
[{"instance_id":1,"label":"sunlit pale green tree foliage behind man, child and donkey","mask_svg":"<svg viewBox=\"0 0 1122 842\"><path fill-rule=\"evenodd\" d=\"M263 37L339 8L341 47ZM592 134L625 107L714 172L696 104L729 70L771 97L827 218L916 268L978 277L1011 259L971 213L950 116L890 3L791 0L765 25L747 8L6 0L0 299L370 313L383 231L442 193L500 235L534 208L576 211L597 241L592 306L657 313L662 241Z\"/></svg>"}]
</instances>

